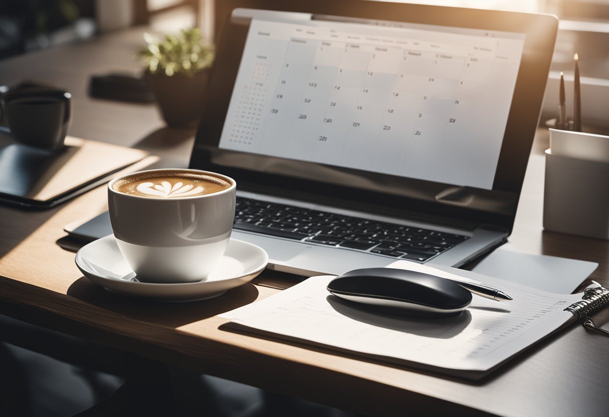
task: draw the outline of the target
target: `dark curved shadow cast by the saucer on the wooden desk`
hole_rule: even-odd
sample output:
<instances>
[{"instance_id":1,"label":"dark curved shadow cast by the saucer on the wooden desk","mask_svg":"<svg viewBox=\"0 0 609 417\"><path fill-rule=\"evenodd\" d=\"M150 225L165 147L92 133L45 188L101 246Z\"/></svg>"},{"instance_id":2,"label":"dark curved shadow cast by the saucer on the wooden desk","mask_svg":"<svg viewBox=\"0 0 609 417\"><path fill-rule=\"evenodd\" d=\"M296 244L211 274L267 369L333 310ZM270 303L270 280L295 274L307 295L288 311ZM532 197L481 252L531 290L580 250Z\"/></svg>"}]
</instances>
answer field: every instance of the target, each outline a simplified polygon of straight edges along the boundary
<instances>
[{"instance_id":1,"label":"dark curved shadow cast by the saucer on the wooden desk","mask_svg":"<svg viewBox=\"0 0 609 417\"><path fill-rule=\"evenodd\" d=\"M250 304L258 298L258 289L246 283L210 300L166 303L112 293L81 277L70 285L68 295L129 318L175 328Z\"/></svg>"}]
</instances>

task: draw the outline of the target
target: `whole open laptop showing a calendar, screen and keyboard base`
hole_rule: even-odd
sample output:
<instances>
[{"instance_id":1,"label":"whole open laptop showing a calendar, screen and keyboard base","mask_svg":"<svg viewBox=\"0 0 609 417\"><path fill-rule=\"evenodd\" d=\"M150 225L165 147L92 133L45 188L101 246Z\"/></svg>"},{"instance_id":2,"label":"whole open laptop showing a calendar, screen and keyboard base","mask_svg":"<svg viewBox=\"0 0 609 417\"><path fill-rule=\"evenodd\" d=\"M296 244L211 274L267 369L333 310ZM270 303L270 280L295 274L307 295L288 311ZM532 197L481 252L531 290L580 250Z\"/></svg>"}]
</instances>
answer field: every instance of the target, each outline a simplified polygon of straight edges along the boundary
<instances>
[{"instance_id":1,"label":"whole open laptop showing a calendar, screen and keyboard base","mask_svg":"<svg viewBox=\"0 0 609 417\"><path fill-rule=\"evenodd\" d=\"M554 16L241 3L222 6L189 165L236 179L233 238L304 275L461 266L507 240Z\"/></svg>"}]
</instances>

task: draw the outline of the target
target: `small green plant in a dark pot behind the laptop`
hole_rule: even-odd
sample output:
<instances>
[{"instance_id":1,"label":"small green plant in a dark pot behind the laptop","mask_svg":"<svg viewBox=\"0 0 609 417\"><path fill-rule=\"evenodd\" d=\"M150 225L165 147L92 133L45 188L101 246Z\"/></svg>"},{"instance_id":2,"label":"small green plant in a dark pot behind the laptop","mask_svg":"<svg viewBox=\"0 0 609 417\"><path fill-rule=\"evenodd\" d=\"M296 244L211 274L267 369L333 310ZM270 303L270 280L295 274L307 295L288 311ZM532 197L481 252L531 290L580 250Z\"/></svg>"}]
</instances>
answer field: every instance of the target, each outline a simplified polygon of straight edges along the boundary
<instances>
[{"instance_id":1,"label":"small green plant in a dark pot behind the laptop","mask_svg":"<svg viewBox=\"0 0 609 417\"><path fill-rule=\"evenodd\" d=\"M158 40L144 34L147 44L139 52L146 63L146 79L172 127L192 127L202 110L214 48L197 28L183 29Z\"/></svg>"}]
</instances>

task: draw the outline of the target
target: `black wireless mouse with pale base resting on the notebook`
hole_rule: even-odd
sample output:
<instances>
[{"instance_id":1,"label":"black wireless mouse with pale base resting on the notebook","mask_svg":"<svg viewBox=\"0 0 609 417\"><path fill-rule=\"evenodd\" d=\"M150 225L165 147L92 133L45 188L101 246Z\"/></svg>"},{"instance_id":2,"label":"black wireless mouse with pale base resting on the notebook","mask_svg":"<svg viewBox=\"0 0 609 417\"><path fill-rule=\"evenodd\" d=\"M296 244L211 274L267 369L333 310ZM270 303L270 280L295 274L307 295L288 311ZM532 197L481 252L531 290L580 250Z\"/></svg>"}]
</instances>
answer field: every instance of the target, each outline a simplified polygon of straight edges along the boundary
<instances>
[{"instance_id":1,"label":"black wireless mouse with pale base resting on the notebook","mask_svg":"<svg viewBox=\"0 0 609 417\"><path fill-rule=\"evenodd\" d=\"M456 316L471 303L470 291L451 280L394 268L354 269L328 291L376 312L420 318Z\"/></svg>"}]
</instances>

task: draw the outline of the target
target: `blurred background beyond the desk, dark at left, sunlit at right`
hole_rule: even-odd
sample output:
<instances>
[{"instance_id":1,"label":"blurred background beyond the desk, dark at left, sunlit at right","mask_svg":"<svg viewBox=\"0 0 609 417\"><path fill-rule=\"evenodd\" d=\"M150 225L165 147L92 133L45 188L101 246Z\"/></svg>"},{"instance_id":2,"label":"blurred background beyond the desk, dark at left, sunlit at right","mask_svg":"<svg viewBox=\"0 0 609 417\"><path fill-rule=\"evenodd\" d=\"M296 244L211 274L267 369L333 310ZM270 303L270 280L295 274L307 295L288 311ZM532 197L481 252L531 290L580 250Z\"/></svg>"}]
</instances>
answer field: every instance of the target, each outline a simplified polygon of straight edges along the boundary
<instances>
[{"instance_id":1,"label":"blurred background beyond the desk, dark at left, sunlit at right","mask_svg":"<svg viewBox=\"0 0 609 417\"><path fill-rule=\"evenodd\" d=\"M565 72L567 90L570 90L573 55L577 52L584 85L584 116L592 124L609 125L605 111L609 109L609 0L412 2L554 13L560 18L560 30L542 117L553 117L555 113L560 71ZM150 32L177 32L183 27L199 26L203 34L213 40L216 9L222 10L222 0L2 0L0 60L138 25L149 26Z\"/></svg>"}]
</instances>

